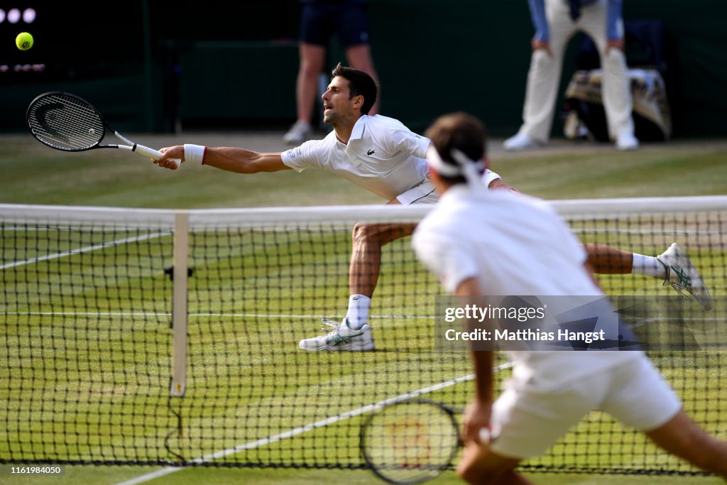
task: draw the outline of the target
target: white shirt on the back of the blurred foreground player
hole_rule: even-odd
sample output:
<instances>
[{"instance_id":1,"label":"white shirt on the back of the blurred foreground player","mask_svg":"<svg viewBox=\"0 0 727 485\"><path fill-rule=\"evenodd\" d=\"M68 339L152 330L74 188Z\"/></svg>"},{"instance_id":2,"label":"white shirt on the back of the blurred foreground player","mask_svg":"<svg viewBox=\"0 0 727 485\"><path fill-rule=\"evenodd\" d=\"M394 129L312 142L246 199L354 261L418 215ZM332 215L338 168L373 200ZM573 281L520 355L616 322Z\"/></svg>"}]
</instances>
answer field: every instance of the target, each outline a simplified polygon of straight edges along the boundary
<instances>
[{"instance_id":1,"label":"white shirt on the back of the blurred foreground player","mask_svg":"<svg viewBox=\"0 0 727 485\"><path fill-rule=\"evenodd\" d=\"M583 268L587 254L545 201L510 191L455 185L414 231L411 244L444 288L476 278L485 295L603 295ZM508 350L515 374L557 388L587 374L640 358L640 351Z\"/></svg>"}]
</instances>

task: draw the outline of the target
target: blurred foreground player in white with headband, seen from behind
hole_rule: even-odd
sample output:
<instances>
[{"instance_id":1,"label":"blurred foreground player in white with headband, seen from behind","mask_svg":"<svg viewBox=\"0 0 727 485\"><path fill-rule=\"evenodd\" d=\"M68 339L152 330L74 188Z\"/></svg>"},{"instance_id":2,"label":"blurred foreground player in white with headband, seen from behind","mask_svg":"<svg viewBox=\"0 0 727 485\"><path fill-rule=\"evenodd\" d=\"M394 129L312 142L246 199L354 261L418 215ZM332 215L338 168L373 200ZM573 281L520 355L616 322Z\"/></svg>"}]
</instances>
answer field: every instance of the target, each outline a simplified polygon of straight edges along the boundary
<instances>
[{"instance_id":1,"label":"blurred foreground player in white with headband, seen from behind","mask_svg":"<svg viewBox=\"0 0 727 485\"><path fill-rule=\"evenodd\" d=\"M478 295L603 295L586 254L544 201L484 191L485 135L464 113L443 116L427 133L430 175L441 193L412 244L444 288ZM530 484L521 460L545 452L594 409L646 433L654 443L727 478L727 444L681 409L674 391L641 350L508 350L513 378L494 400L494 352L472 352L475 399L467 409L457 473L471 484ZM485 430L483 432L483 430Z\"/></svg>"}]
</instances>

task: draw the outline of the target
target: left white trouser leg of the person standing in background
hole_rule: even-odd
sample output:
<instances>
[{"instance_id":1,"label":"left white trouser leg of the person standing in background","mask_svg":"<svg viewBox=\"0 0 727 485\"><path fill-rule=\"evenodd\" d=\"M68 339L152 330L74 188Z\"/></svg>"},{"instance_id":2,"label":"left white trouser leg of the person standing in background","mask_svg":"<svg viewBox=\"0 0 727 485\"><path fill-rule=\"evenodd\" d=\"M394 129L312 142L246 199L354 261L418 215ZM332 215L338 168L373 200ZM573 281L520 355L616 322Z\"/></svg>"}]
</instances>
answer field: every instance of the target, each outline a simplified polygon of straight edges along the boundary
<instances>
[{"instance_id":1,"label":"left white trouser leg of the person standing in background","mask_svg":"<svg viewBox=\"0 0 727 485\"><path fill-rule=\"evenodd\" d=\"M539 142L547 142L550 138L563 54L576 30L576 24L569 17L568 7L563 1L546 1L545 13L550 26L550 52L553 56L542 49L533 52L523 106L523 126L520 129L521 133Z\"/></svg>"}]
</instances>

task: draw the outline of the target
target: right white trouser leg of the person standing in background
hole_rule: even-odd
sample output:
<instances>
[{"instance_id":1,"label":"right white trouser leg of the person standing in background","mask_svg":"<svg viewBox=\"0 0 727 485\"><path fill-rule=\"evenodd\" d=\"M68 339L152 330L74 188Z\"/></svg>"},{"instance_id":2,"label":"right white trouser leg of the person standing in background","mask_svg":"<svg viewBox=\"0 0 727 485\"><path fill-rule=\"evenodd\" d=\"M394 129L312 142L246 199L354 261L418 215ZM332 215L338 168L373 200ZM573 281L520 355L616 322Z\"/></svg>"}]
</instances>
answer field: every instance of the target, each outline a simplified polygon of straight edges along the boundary
<instances>
[{"instance_id":1,"label":"right white trouser leg of the person standing in background","mask_svg":"<svg viewBox=\"0 0 727 485\"><path fill-rule=\"evenodd\" d=\"M582 9L582 29L598 47L603 69L603 108L608 121L608 135L615 139L622 133L633 135L632 99L626 57L619 49L606 54L606 1L599 0ZM623 36L623 21L619 20Z\"/></svg>"}]
</instances>

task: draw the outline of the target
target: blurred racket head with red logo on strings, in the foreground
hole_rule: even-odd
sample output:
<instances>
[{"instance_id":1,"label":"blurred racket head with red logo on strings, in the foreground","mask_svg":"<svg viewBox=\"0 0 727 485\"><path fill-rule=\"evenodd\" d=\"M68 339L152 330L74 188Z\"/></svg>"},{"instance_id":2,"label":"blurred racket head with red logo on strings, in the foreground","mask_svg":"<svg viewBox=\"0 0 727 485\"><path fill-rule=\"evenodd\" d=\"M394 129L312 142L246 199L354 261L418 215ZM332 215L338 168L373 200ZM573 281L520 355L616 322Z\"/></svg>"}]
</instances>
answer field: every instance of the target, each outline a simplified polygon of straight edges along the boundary
<instances>
[{"instance_id":1,"label":"blurred racket head with red logo on strings, in the foreground","mask_svg":"<svg viewBox=\"0 0 727 485\"><path fill-rule=\"evenodd\" d=\"M457 422L462 412L411 400L369 414L359 442L366 465L390 484L420 484L438 476L462 446Z\"/></svg>"}]
</instances>

